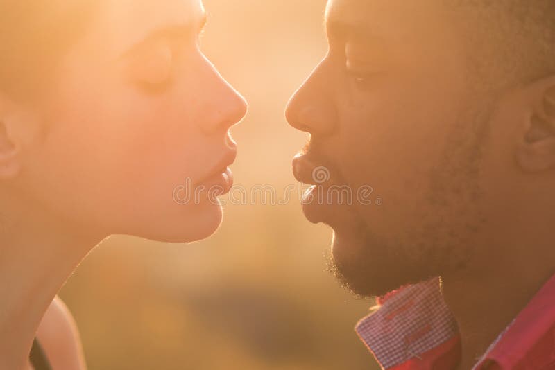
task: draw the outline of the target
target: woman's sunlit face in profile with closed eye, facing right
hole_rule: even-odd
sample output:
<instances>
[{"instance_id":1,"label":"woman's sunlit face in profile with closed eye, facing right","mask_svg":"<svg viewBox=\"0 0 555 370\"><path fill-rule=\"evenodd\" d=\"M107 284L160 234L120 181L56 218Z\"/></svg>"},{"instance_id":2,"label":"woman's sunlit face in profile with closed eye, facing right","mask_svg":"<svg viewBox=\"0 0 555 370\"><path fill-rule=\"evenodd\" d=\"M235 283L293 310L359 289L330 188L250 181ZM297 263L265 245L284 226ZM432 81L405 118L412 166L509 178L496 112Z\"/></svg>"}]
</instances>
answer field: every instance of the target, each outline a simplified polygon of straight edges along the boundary
<instances>
[{"instance_id":1,"label":"woman's sunlit face in profile with closed eye, facing right","mask_svg":"<svg viewBox=\"0 0 555 370\"><path fill-rule=\"evenodd\" d=\"M199 49L200 0L105 1L42 101L25 186L105 234L185 242L221 223L246 103Z\"/></svg>"}]
</instances>

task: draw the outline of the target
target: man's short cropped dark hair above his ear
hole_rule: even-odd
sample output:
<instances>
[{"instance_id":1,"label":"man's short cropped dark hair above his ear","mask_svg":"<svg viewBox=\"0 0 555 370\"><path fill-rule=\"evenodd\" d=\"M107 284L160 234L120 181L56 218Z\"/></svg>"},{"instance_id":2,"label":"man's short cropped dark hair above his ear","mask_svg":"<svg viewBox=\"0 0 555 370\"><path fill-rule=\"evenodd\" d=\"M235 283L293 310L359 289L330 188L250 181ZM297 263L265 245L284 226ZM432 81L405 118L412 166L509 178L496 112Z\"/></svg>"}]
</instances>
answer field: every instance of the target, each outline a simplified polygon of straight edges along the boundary
<instances>
[{"instance_id":1,"label":"man's short cropped dark hair above his ear","mask_svg":"<svg viewBox=\"0 0 555 370\"><path fill-rule=\"evenodd\" d=\"M461 17L477 77L506 85L555 74L555 0L443 1Z\"/></svg>"}]
</instances>

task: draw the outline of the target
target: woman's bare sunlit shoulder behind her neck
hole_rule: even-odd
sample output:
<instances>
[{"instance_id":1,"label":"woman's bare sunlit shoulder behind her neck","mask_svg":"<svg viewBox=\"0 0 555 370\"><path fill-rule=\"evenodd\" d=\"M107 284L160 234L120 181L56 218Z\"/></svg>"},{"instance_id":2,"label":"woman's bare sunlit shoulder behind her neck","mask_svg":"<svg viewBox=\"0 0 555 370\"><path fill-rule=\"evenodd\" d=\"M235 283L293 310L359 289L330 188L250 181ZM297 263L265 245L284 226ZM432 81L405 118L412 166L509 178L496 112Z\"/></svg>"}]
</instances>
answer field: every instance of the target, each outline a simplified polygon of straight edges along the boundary
<instances>
[{"instance_id":1,"label":"woman's bare sunlit shoulder behind her neck","mask_svg":"<svg viewBox=\"0 0 555 370\"><path fill-rule=\"evenodd\" d=\"M46 310L37 331L37 339L53 369L86 369L76 322L59 297Z\"/></svg>"}]
</instances>

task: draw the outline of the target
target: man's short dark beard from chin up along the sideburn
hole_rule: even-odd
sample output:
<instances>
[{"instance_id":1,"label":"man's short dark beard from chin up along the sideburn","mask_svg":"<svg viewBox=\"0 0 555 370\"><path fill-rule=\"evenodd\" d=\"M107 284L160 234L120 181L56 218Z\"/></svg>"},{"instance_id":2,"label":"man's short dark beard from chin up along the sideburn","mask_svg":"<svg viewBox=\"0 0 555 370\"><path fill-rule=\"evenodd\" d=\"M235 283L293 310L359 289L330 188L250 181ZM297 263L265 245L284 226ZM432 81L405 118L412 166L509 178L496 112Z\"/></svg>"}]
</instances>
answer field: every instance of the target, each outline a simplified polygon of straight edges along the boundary
<instances>
[{"instance_id":1,"label":"man's short dark beard from chin up along the sideburn","mask_svg":"<svg viewBox=\"0 0 555 370\"><path fill-rule=\"evenodd\" d=\"M476 236L485 222L478 174L491 107L469 109L447 139L445 160L430 173L420 232L403 235L400 229L395 238L386 239L361 221L348 233L334 233L334 245L341 248L327 258L328 268L345 289L357 297L379 297L472 265Z\"/></svg>"}]
</instances>

